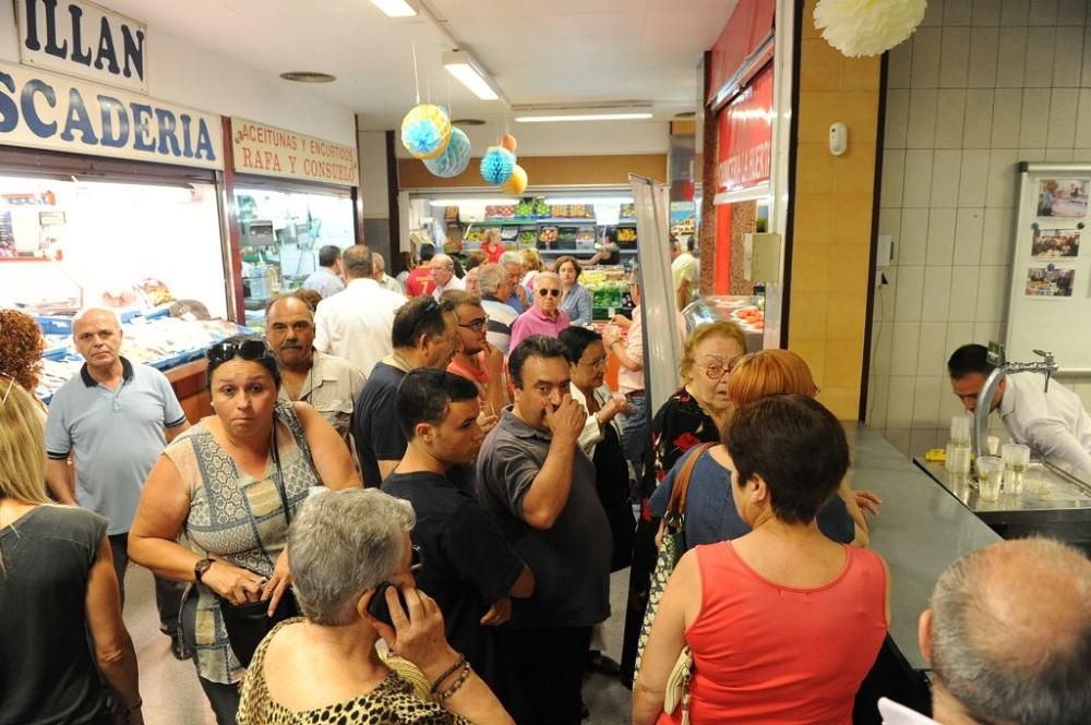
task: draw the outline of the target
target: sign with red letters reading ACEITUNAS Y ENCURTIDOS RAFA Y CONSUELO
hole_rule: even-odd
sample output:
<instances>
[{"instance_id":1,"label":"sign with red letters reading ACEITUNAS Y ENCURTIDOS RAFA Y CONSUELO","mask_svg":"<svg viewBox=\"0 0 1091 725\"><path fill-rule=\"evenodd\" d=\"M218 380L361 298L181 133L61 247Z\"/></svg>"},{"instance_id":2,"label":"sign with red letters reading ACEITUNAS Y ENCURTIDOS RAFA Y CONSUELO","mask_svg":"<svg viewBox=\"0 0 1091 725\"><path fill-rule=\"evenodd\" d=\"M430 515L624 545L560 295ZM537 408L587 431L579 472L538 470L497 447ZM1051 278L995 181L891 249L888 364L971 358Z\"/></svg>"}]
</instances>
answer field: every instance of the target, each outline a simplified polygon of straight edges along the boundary
<instances>
[{"instance_id":1,"label":"sign with red letters reading ACEITUNAS Y ENCURTIDOS RAFA Y CONSUELO","mask_svg":"<svg viewBox=\"0 0 1091 725\"><path fill-rule=\"evenodd\" d=\"M360 185L356 148L264 123L231 119L236 173Z\"/></svg>"}]
</instances>

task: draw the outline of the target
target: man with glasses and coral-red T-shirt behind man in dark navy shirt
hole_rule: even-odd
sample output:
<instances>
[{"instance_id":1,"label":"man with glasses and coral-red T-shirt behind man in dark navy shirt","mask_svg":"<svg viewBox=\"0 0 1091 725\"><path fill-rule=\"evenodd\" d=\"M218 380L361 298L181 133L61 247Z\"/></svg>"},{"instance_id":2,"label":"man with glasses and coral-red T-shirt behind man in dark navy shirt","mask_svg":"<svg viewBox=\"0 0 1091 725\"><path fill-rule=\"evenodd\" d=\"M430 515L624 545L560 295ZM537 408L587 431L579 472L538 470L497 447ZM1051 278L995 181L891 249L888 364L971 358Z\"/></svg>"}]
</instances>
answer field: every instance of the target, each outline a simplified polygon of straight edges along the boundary
<instances>
[{"instance_id":1,"label":"man with glasses and coral-red T-shirt behind man in dark navy shirt","mask_svg":"<svg viewBox=\"0 0 1091 725\"><path fill-rule=\"evenodd\" d=\"M458 337L463 349L455 353L447 372L461 375L478 387L488 433L507 406L507 385L504 380L504 354L489 345L489 316L481 300L469 292L454 290L443 293L444 302L454 305L458 318Z\"/></svg>"}]
</instances>

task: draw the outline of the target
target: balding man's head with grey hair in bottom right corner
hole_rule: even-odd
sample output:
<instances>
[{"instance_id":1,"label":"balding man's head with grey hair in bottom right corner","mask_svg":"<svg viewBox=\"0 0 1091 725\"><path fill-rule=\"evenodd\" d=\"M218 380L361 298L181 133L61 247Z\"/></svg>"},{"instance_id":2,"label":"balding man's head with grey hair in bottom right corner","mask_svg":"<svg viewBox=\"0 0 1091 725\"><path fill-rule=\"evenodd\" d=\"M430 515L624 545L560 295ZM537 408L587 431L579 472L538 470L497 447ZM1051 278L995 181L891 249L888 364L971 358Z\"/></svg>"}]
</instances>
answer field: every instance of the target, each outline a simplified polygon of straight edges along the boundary
<instances>
[{"instance_id":1,"label":"balding man's head with grey hair in bottom right corner","mask_svg":"<svg viewBox=\"0 0 1091 725\"><path fill-rule=\"evenodd\" d=\"M1091 561L1045 539L962 557L936 582L921 648L938 722L949 696L981 722L1091 723Z\"/></svg>"}]
</instances>

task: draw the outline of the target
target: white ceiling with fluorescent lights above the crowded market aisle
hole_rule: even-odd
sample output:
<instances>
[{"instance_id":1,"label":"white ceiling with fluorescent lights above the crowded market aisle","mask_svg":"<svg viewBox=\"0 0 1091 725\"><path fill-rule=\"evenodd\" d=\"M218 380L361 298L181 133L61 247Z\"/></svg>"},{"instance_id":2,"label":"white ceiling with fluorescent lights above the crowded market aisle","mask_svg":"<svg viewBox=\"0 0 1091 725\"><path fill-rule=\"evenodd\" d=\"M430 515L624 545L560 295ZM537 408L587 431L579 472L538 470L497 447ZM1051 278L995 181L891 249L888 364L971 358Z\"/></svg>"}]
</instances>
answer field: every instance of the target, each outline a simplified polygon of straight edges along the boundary
<instances>
[{"instance_id":1,"label":"white ceiling with fluorescent lights above the crowded market aisle","mask_svg":"<svg viewBox=\"0 0 1091 725\"><path fill-rule=\"evenodd\" d=\"M421 17L392 20L368 0L99 0L165 33L276 76L322 71L314 93L370 129L395 128L415 102L412 46L422 100L455 118L503 123L500 101L480 101L451 78L444 34ZM650 101L657 120L693 110L696 67L738 0L424 0L492 74L513 105Z\"/></svg>"}]
</instances>

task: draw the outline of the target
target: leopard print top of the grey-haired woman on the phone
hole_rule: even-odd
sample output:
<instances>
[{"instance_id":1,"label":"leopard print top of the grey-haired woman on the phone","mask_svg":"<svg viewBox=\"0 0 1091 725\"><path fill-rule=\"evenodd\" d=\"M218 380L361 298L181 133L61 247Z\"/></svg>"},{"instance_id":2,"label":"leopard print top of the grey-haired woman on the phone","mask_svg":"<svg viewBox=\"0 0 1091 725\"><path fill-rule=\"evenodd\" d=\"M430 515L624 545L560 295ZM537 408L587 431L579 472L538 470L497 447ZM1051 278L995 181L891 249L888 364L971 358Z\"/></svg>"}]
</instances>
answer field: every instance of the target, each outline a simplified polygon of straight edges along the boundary
<instances>
[{"instance_id":1,"label":"leopard print top of the grey-haired woman on the phone","mask_svg":"<svg viewBox=\"0 0 1091 725\"><path fill-rule=\"evenodd\" d=\"M239 725L470 725L440 705L420 699L413 686L391 673L371 692L346 702L336 702L293 712L269 697L265 684L265 651L277 631L302 618L287 619L262 640L250 662L239 701Z\"/></svg>"}]
</instances>

